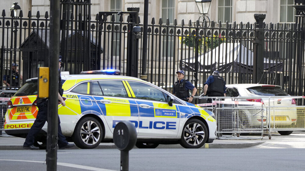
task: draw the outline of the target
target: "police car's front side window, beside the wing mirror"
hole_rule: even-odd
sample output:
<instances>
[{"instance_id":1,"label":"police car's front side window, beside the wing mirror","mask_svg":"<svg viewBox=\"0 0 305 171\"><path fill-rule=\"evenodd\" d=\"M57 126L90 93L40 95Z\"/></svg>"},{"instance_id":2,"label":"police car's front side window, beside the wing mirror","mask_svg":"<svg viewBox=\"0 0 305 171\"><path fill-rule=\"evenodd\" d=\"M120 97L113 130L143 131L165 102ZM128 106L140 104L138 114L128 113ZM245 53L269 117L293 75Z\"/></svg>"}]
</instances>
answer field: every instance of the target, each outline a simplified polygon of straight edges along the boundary
<instances>
[{"instance_id":1,"label":"police car's front side window, beside the wing mirror","mask_svg":"<svg viewBox=\"0 0 305 171\"><path fill-rule=\"evenodd\" d=\"M166 101L162 91L151 85L135 81L128 81L128 83L138 99Z\"/></svg>"}]
</instances>

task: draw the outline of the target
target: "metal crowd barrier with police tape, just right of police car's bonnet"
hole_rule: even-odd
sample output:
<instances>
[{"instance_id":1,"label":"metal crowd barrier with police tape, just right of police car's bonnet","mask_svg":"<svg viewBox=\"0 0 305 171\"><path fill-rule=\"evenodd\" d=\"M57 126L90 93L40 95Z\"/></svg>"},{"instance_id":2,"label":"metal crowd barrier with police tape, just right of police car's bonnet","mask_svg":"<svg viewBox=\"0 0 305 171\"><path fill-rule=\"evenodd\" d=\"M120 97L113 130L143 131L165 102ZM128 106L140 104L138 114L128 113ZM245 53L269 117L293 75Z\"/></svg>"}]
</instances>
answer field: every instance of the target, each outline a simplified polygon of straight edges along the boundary
<instances>
[{"instance_id":1,"label":"metal crowd barrier with police tape, just right of police car's bonnet","mask_svg":"<svg viewBox=\"0 0 305 171\"><path fill-rule=\"evenodd\" d=\"M263 139L263 121L266 120L267 116L264 116L262 102L247 100L253 99L253 97L196 98L198 98L198 103L211 99L211 103L197 105L214 112L217 121L218 139ZM259 134L260 137L245 137L249 133ZM231 136L223 136L223 134L231 134Z\"/></svg>"}]
</instances>

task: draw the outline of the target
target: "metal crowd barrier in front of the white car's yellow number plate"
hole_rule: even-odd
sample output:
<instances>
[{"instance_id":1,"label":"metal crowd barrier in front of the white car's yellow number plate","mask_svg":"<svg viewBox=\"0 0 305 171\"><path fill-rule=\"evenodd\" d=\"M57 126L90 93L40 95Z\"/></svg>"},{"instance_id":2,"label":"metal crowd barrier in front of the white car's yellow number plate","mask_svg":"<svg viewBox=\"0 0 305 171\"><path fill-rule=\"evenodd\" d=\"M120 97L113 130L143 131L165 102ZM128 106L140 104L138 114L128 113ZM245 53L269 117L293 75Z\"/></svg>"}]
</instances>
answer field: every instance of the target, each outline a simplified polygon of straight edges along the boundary
<instances>
[{"instance_id":1,"label":"metal crowd barrier in front of the white car's yellow number plate","mask_svg":"<svg viewBox=\"0 0 305 171\"><path fill-rule=\"evenodd\" d=\"M271 96L267 105L269 139L271 132L289 135L292 131L305 131L305 96ZM295 105L293 105L295 104Z\"/></svg>"}]
</instances>

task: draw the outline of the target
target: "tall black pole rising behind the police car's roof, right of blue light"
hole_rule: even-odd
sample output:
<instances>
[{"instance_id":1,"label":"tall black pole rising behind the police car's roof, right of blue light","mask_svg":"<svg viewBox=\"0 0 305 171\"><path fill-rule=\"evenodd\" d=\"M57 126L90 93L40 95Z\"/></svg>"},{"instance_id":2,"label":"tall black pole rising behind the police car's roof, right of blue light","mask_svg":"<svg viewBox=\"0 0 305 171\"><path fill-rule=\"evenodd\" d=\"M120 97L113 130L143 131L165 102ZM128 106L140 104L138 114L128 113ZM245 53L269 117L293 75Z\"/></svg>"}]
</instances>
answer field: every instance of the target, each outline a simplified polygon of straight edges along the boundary
<instances>
[{"instance_id":1,"label":"tall black pole rising behind the police car's roof, right of blue light","mask_svg":"<svg viewBox=\"0 0 305 171\"><path fill-rule=\"evenodd\" d=\"M142 75L141 79L147 81L146 61L147 61L147 28L148 28L148 0L144 0L144 20L143 20L143 47L142 47Z\"/></svg>"}]
</instances>

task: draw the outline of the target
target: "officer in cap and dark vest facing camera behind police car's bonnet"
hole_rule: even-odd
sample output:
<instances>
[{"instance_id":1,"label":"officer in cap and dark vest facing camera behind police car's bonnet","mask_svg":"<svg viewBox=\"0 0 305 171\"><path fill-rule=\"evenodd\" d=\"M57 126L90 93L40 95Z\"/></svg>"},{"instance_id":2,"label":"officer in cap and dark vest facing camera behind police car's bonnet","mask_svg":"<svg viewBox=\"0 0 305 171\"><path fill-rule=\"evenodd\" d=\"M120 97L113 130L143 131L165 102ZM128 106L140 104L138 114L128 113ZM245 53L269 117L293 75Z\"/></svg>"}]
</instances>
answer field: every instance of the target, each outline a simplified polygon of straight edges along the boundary
<instances>
[{"instance_id":1,"label":"officer in cap and dark vest facing camera behind police car's bonnet","mask_svg":"<svg viewBox=\"0 0 305 171\"><path fill-rule=\"evenodd\" d=\"M178 81L174 84L173 94L184 101L192 102L193 97L197 92L197 89L194 87L194 85L192 85L191 82L183 79L184 71L179 70L176 72L176 74ZM192 90L191 96L189 95L188 90Z\"/></svg>"}]
</instances>

